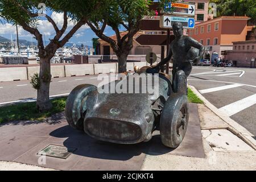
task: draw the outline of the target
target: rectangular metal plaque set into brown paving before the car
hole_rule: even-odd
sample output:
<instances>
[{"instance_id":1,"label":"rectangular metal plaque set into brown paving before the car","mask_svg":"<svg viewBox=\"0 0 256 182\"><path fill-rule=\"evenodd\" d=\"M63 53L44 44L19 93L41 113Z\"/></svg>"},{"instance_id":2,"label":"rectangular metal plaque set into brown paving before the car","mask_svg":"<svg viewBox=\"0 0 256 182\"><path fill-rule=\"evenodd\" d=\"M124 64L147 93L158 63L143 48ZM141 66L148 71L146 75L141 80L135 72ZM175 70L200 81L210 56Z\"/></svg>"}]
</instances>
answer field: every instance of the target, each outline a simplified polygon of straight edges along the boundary
<instances>
[{"instance_id":1,"label":"rectangular metal plaque set into brown paving before the car","mask_svg":"<svg viewBox=\"0 0 256 182\"><path fill-rule=\"evenodd\" d=\"M75 152L77 148L58 146L55 144L49 144L46 148L39 151L37 155L46 155L53 158L67 159L72 152Z\"/></svg>"}]
</instances>

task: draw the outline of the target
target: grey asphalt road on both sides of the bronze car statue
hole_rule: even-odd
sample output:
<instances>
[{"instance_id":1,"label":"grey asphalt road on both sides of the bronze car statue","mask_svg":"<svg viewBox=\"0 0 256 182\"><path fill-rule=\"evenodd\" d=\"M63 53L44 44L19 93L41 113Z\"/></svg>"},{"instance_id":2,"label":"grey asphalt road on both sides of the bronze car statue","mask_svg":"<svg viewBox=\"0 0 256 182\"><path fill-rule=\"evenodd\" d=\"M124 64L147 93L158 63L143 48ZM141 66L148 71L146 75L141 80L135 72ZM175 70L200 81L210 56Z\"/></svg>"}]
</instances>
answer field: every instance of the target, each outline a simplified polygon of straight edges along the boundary
<instances>
[{"instance_id":1,"label":"grey asphalt road on both sides of the bronze car statue","mask_svg":"<svg viewBox=\"0 0 256 182\"><path fill-rule=\"evenodd\" d=\"M256 136L256 69L193 67L189 84L218 109ZM62 96L80 84L97 85L97 76L53 78L50 96ZM30 81L0 82L0 105L36 98Z\"/></svg>"}]
</instances>

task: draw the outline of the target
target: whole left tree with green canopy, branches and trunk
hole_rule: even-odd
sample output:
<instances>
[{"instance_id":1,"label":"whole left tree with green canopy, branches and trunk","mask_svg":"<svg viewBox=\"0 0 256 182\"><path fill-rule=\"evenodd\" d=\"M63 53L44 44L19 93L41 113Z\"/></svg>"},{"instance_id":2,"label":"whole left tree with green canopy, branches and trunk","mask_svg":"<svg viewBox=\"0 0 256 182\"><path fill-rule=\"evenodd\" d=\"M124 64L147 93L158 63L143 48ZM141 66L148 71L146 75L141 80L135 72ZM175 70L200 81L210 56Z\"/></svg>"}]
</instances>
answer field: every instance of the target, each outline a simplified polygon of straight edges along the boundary
<instances>
[{"instance_id":1,"label":"whole left tree with green canopy, branches and trunk","mask_svg":"<svg viewBox=\"0 0 256 182\"><path fill-rule=\"evenodd\" d=\"M44 17L39 14L40 3L46 5L46 10L63 13L63 26L59 28L59 22L54 22L50 15L46 13ZM50 60L55 55L58 48L76 33L79 28L86 23L90 17L96 17L101 13L105 1L100 0L0 0L0 19L19 24L24 30L33 34L38 41L40 57L40 88L38 89L37 107L39 110L49 110L52 107L49 101L49 84L51 82ZM102 6L103 5L103 6ZM43 32L39 32L37 25L39 19L46 19L52 24L56 34L48 45L43 43ZM2 20L2 23L5 22ZM68 21L72 20L74 26L67 30Z\"/></svg>"}]
</instances>

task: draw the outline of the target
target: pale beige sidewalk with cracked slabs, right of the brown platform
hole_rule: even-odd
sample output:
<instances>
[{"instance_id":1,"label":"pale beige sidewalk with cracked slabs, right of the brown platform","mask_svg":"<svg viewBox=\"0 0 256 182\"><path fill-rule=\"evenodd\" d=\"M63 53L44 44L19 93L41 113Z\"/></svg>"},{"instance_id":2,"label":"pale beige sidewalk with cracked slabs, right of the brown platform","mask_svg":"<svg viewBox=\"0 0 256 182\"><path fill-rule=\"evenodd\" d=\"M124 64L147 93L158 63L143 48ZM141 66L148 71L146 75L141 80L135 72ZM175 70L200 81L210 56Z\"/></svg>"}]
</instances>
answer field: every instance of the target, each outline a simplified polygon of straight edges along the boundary
<instances>
[{"instance_id":1,"label":"pale beige sidewalk with cracked slabs, right of the brown platform","mask_svg":"<svg viewBox=\"0 0 256 182\"><path fill-rule=\"evenodd\" d=\"M142 170L256 170L256 151L228 130L205 105L199 105L205 158L147 155Z\"/></svg>"}]
</instances>

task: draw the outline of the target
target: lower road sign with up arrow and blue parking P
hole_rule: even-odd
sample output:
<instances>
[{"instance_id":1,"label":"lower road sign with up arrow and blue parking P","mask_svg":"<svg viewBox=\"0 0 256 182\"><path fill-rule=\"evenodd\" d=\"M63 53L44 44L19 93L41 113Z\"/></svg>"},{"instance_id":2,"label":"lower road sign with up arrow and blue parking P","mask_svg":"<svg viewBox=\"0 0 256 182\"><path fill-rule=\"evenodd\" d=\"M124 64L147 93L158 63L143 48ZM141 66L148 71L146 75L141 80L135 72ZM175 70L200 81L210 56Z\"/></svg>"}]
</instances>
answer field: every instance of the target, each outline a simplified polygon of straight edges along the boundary
<instances>
[{"instance_id":1,"label":"lower road sign with up arrow and blue parking P","mask_svg":"<svg viewBox=\"0 0 256 182\"><path fill-rule=\"evenodd\" d=\"M174 24L175 22L180 22L183 25L183 28L195 28L195 18L170 15L161 16L160 27L171 28L172 24Z\"/></svg>"}]
</instances>

